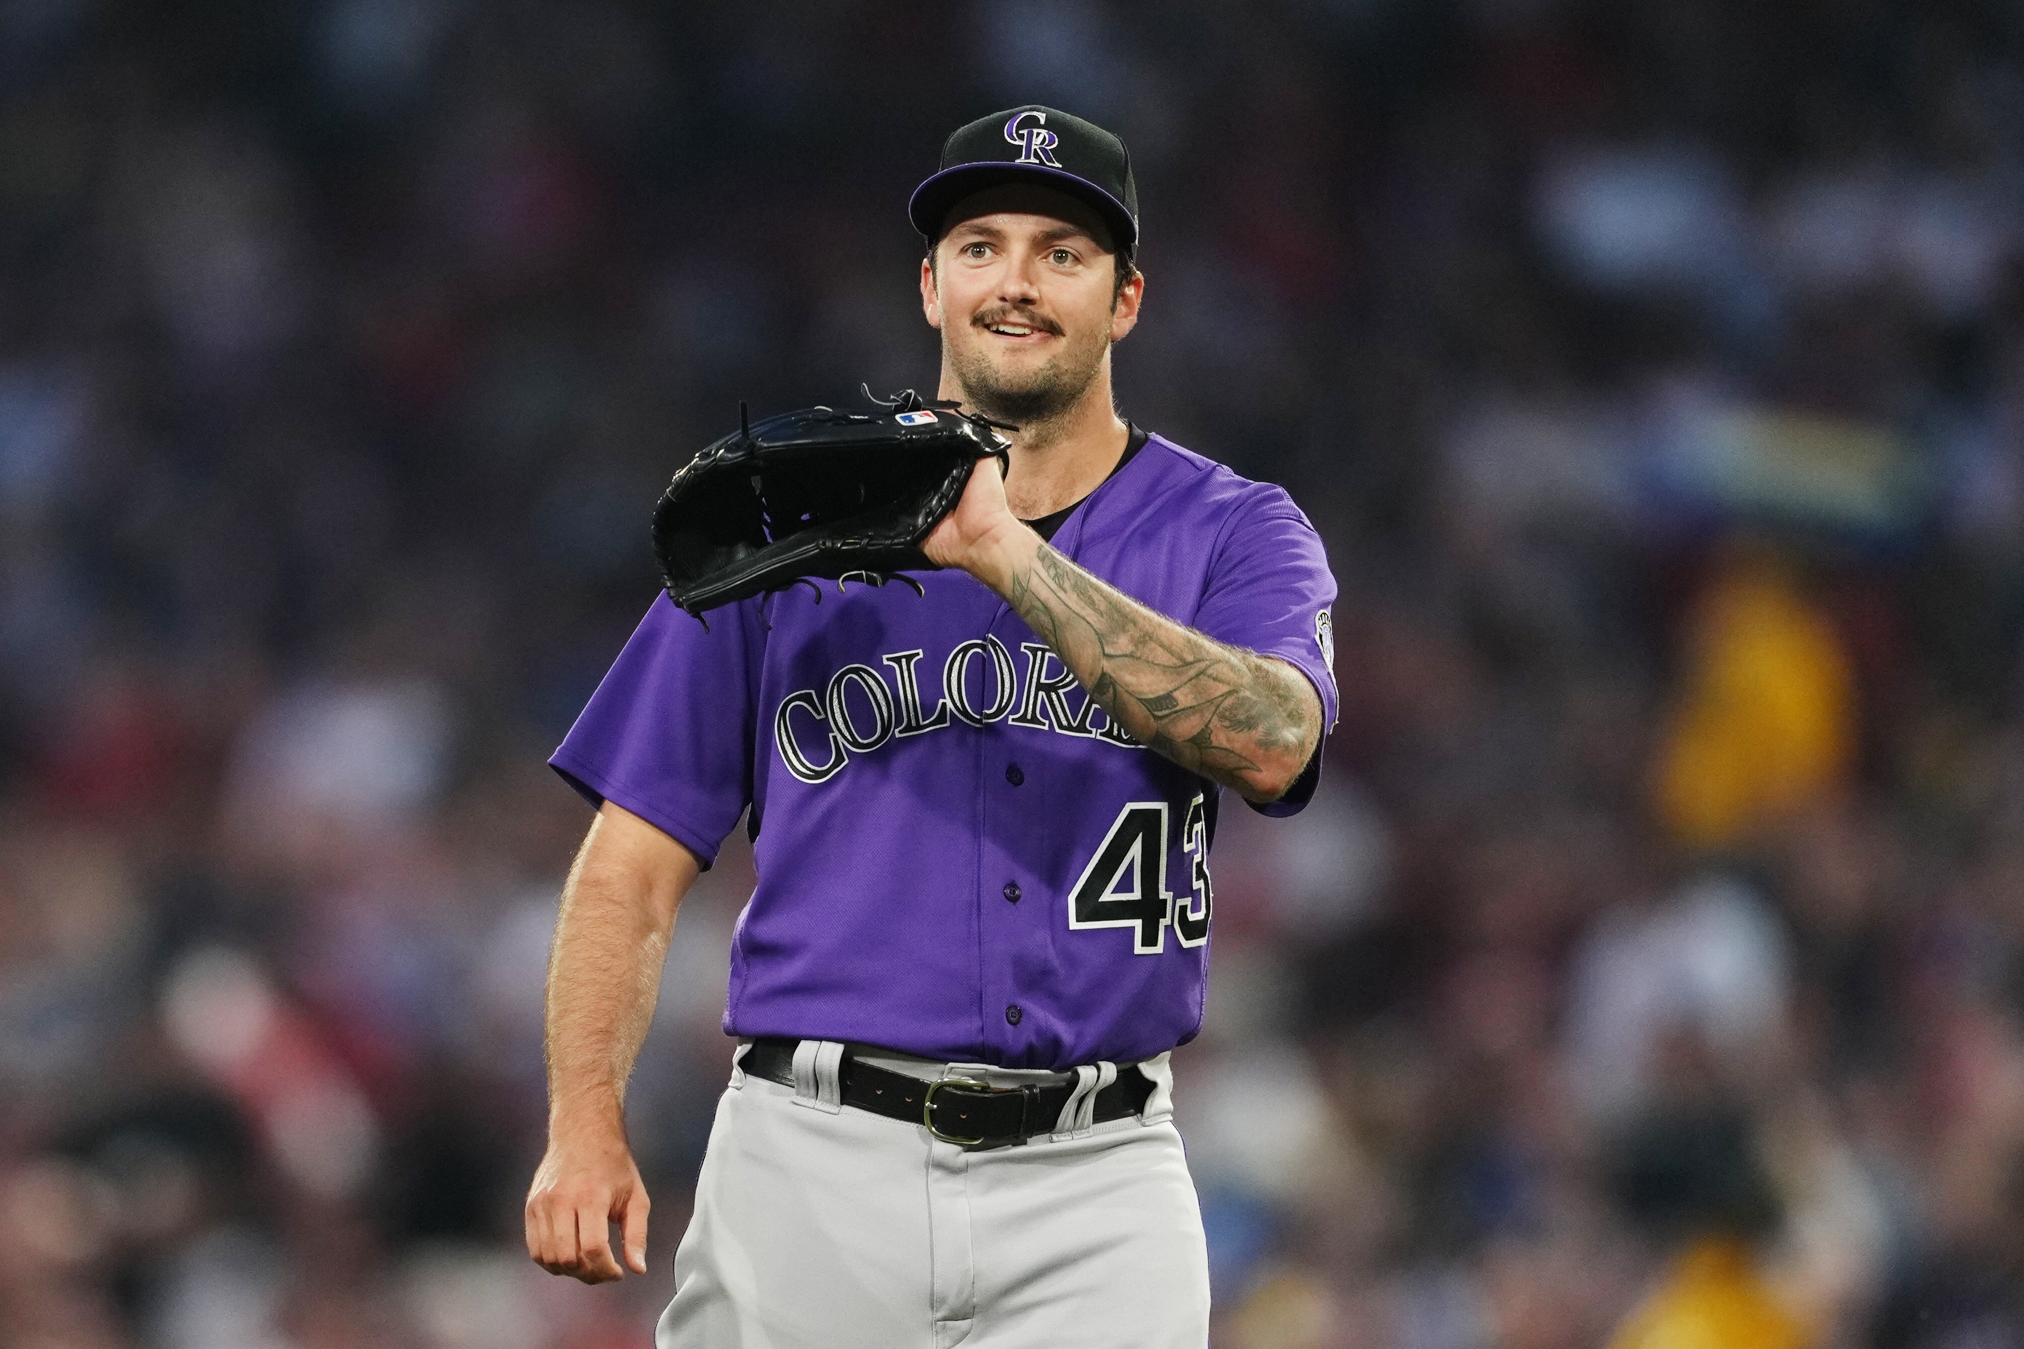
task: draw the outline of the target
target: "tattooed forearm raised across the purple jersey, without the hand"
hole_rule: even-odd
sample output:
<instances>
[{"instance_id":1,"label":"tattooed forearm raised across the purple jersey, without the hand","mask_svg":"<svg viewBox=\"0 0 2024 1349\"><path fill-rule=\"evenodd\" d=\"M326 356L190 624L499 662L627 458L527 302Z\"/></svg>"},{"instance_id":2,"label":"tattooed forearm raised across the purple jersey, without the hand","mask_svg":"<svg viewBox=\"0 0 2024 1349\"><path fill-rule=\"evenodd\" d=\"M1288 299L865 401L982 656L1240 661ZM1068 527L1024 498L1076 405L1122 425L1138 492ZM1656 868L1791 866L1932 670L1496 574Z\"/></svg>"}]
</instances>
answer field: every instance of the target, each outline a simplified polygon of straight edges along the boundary
<instances>
[{"instance_id":1,"label":"tattooed forearm raised across the purple jersey, without the hand","mask_svg":"<svg viewBox=\"0 0 2024 1349\"><path fill-rule=\"evenodd\" d=\"M1210 641L1046 544L1006 599L1113 722L1180 767L1269 801L1314 754L1322 706L1285 661Z\"/></svg>"}]
</instances>

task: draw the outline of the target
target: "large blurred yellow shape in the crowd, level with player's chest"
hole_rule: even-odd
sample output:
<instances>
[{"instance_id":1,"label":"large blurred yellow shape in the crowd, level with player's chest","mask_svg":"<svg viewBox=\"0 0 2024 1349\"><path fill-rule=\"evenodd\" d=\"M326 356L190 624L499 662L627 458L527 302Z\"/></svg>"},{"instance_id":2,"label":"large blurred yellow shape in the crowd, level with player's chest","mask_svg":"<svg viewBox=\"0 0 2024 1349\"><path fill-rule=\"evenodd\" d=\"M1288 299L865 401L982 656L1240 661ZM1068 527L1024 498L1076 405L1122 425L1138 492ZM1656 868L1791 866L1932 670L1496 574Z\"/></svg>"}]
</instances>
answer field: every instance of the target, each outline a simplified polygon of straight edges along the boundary
<instances>
[{"instance_id":1,"label":"large blurred yellow shape in the crowd, level with player's chest","mask_svg":"<svg viewBox=\"0 0 2024 1349\"><path fill-rule=\"evenodd\" d=\"M1720 849L1820 799L1854 758L1854 708L1834 625L1775 560L1733 562L1694 615L1660 744L1660 819L1678 843Z\"/></svg>"}]
</instances>

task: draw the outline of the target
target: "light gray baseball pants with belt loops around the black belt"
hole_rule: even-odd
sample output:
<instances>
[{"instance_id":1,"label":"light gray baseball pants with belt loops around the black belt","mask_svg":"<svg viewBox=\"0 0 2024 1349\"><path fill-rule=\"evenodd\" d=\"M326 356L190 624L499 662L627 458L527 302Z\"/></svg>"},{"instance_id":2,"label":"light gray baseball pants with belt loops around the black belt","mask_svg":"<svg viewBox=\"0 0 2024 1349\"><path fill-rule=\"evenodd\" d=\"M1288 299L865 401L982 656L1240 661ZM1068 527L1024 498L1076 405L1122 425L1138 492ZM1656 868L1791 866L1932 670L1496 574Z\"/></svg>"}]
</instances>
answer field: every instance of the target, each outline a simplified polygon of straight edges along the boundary
<instances>
[{"instance_id":1,"label":"light gray baseball pants with belt loops around the black belt","mask_svg":"<svg viewBox=\"0 0 2024 1349\"><path fill-rule=\"evenodd\" d=\"M836 1042L797 1086L733 1068L656 1349L1202 1349L1208 1254L1166 1054L1144 1116L969 1151L838 1102ZM743 1050L741 1050L743 1054ZM933 1064L994 1086L1075 1074ZM1081 1082L1095 1088L1097 1070ZM1083 1098L1087 1100L1087 1096Z\"/></svg>"}]
</instances>

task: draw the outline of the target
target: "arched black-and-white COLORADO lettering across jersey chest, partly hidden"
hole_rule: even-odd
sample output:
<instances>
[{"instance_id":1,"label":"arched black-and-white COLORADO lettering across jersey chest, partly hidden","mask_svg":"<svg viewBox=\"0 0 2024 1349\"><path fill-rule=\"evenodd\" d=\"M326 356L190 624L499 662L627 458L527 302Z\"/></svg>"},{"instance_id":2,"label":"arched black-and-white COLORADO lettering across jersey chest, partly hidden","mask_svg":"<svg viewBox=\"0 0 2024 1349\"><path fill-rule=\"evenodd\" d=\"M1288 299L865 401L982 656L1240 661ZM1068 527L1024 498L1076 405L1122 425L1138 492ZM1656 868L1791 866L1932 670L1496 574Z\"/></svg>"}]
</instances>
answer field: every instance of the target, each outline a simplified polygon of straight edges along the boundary
<instances>
[{"instance_id":1,"label":"arched black-and-white COLORADO lettering across jersey chest, partly hidden","mask_svg":"<svg viewBox=\"0 0 2024 1349\"><path fill-rule=\"evenodd\" d=\"M844 665L826 688L781 698L773 712L773 742L787 773L804 783L826 783L844 771L852 754L870 754L895 736L923 736L953 722L988 726L1006 720L1119 748L1146 748L1113 726L1061 657L1038 641L1020 643L1024 669L998 637L957 643L941 661L941 696L933 712L925 710L915 669L923 655L923 649L880 655L887 671ZM1071 694L1081 698L1079 708L1069 706Z\"/></svg>"}]
</instances>

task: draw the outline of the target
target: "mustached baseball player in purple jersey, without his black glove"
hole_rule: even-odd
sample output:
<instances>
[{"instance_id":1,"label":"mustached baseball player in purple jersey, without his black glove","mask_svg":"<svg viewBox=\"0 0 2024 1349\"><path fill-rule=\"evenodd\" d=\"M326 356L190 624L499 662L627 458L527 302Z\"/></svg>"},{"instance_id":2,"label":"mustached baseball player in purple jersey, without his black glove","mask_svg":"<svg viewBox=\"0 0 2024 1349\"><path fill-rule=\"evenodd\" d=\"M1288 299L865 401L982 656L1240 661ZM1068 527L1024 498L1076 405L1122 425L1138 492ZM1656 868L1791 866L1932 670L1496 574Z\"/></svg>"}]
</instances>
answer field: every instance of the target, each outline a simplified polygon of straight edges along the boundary
<instances>
[{"instance_id":1,"label":"mustached baseball player in purple jersey, without his black glove","mask_svg":"<svg viewBox=\"0 0 2024 1349\"><path fill-rule=\"evenodd\" d=\"M549 969L528 1252L646 1270L625 1078L682 894L745 815L739 1050L660 1349L1198 1349L1168 1052L1202 1023L1222 791L1269 815L1314 791L1336 587L1285 491L1113 411L1146 289L1123 142L994 113L911 216L939 392L1018 427L1010 471L978 463L925 597L795 587L708 625L658 599L557 750L597 817Z\"/></svg>"}]
</instances>

